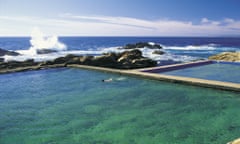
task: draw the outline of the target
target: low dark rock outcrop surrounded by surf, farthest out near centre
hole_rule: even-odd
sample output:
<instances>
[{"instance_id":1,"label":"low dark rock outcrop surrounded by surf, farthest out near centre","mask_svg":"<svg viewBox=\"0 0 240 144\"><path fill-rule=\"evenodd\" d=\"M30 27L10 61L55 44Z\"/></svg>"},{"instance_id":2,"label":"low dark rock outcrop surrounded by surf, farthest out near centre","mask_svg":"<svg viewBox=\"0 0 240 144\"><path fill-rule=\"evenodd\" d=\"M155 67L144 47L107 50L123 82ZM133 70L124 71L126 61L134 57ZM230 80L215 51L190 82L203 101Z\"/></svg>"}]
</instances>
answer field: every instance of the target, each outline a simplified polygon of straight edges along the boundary
<instances>
[{"instance_id":1,"label":"low dark rock outcrop surrounded by surf, farthest out near centre","mask_svg":"<svg viewBox=\"0 0 240 144\"><path fill-rule=\"evenodd\" d=\"M150 44L148 42L139 42L136 44L127 44L123 47L123 49L135 49L135 48L150 48L150 49L162 49L162 47L159 44Z\"/></svg>"}]
</instances>

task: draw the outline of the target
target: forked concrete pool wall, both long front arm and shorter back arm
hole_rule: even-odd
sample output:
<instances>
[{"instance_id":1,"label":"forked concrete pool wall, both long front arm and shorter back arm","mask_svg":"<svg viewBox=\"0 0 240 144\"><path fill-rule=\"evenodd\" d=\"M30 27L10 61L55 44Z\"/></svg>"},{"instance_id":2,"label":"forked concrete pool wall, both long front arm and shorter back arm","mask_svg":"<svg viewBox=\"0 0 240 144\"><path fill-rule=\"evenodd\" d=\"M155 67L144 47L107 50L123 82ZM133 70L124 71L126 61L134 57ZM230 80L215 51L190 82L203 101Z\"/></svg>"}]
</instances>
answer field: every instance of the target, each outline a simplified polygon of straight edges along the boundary
<instances>
[{"instance_id":1,"label":"forked concrete pool wall, both long front arm and shorter back arm","mask_svg":"<svg viewBox=\"0 0 240 144\"><path fill-rule=\"evenodd\" d=\"M117 73L122 75L143 77L143 78L152 79L152 80L182 83L182 84L195 85L195 86L201 86L201 87L207 87L207 88L240 92L240 84L238 83L221 82L221 81L205 80L205 79L189 78L189 77L181 77L181 76L170 76L170 75L156 74L156 73L149 72L149 71L159 71L159 69L167 70L167 69L174 69L174 67L175 69L176 68L179 69L179 68L186 68L186 67L210 64L210 63L212 63L212 61L200 61L200 62L191 62L186 64L177 64L177 65L152 67L152 68L146 68L146 69L135 69L135 70L119 70L119 69L102 68L102 67L85 66L85 65L68 65L68 67L111 72L111 73Z\"/></svg>"}]
</instances>

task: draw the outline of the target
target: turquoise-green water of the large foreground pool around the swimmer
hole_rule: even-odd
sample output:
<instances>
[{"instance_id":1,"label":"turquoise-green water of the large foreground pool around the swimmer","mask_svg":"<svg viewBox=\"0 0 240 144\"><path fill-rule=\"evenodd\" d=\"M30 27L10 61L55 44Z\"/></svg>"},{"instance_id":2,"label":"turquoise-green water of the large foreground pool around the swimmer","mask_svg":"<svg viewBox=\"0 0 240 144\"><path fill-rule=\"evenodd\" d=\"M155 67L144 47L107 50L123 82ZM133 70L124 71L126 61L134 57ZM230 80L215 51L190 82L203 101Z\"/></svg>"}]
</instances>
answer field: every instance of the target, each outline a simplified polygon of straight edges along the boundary
<instances>
[{"instance_id":1,"label":"turquoise-green water of the large foreground pool around the swimmer","mask_svg":"<svg viewBox=\"0 0 240 144\"><path fill-rule=\"evenodd\" d=\"M0 84L1 144L220 144L240 137L239 93L79 69L4 74Z\"/></svg>"}]
</instances>

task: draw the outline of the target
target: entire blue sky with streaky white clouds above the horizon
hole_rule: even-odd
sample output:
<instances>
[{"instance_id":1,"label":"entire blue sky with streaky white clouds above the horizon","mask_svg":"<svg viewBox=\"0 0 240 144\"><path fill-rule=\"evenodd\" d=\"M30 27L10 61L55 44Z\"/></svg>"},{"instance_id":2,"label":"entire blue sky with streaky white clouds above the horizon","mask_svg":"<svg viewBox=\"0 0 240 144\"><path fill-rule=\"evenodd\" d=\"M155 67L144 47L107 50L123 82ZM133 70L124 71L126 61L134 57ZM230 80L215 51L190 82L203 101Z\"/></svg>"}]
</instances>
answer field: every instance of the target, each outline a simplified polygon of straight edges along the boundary
<instances>
[{"instance_id":1,"label":"entire blue sky with streaky white clouds above the horizon","mask_svg":"<svg viewBox=\"0 0 240 144\"><path fill-rule=\"evenodd\" d=\"M0 0L0 36L240 36L239 0Z\"/></svg>"}]
</instances>

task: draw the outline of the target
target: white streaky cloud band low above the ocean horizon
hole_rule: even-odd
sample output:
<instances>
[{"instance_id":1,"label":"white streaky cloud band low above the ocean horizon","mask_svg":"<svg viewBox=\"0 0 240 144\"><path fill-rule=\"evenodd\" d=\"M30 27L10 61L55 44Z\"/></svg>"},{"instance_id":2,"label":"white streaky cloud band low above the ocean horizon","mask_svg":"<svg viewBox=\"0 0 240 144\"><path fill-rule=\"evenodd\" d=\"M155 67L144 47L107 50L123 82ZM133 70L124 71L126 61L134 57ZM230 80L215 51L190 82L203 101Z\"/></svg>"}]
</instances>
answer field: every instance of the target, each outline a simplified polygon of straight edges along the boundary
<instances>
[{"instance_id":1,"label":"white streaky cloud band low above the ocean horizon","mask_svg":"<svg viewBox=\"0 0 240 144\"><path fill-rule=\"evenodd\" d=\"M240 21L226 18L220 21L202 18L191 21L144 20L130 17L82 16L62 14L48 19L39 17L0 16L0 36L30 35L33 27L48 35L73 36L236 36Z\"/></svg>"}]
</instances>

